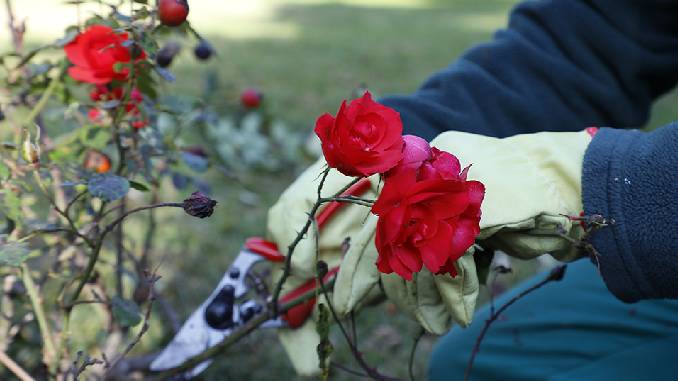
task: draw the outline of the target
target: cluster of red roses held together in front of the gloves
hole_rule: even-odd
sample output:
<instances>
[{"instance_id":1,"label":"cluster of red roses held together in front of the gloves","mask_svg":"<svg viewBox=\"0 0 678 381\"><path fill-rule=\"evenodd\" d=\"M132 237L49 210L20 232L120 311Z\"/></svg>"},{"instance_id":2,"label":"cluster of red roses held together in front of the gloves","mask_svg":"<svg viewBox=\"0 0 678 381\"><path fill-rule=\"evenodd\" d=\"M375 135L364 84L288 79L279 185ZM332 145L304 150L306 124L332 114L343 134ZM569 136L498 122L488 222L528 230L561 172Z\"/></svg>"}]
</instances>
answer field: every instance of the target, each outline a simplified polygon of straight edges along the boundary
<instances>
[{"instance_id":1,"label":"cluster of red roses held together in front of the gloves","mask_svg":"<svg viewBox=\"0 0 678 381\"><path fill-rule=\"evenodd\" d=\"M328 165L348 176L381 173L384 188L372 213L379 216L377 268L406 280L425 265L435 274L457 275L455 262L480 233L485 187L467 181L452 154L418 137L402 136L399 114L369 93L336 117L322 115L316 134Z\"/></svg>"}]
</instances>

